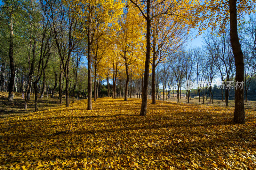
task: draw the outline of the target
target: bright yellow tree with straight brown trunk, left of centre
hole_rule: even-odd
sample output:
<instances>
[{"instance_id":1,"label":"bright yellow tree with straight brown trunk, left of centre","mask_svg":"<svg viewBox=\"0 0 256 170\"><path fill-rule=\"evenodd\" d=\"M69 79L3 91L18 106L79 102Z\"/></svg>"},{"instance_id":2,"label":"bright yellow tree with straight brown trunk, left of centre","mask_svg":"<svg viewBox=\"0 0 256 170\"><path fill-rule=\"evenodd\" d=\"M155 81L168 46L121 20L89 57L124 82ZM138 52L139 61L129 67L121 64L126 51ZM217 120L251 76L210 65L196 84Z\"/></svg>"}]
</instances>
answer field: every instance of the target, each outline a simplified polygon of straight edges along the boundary
<instances>
[{"instance_id":1,"label":"bright yellow tree with straight brown trunk, left of centre","mask_svg":"<svg viewBox=\"0 0 256 170\"><path fill-rule=\"evenodd\" d=\"M108 26L116 25L117 19L123 13L123 3L120 0L74 0L69 1L73 9L82 17L85 33L81 38L86 38L88 45L88 100L87 110L92 110L92 42L105 33ZM98 33L97 36L95 36Z\"/></svg>"}]
</instances>

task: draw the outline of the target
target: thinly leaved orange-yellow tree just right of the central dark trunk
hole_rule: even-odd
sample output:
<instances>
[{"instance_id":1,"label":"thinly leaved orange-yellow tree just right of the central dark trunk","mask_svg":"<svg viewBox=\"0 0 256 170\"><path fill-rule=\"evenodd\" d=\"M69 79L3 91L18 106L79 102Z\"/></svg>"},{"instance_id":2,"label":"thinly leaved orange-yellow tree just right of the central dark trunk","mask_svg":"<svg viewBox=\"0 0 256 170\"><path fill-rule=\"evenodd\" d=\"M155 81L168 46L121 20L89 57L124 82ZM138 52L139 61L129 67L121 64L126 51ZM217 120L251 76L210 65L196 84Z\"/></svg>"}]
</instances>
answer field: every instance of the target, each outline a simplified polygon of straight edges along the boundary
<instances>
[{"instance_id":1,"label":"thinly leaved orange-yellow tree just right of the central dark trunk","mask_svg":"<svg viewBox=\"0 0 256 170\"><path fill-rule=\"evenodd\" d=\"M158 11L152 10L152 13ZM189 25L187 19L180 19L176 16L157 16L151 21L151 51L152 59L152 104L156 104L156 66L159 63L167 62L167 59L174 53L189 37ZM193 22L190 22L190 24ZM167 60L166 60L167 59Z\"/></svg>"}]
</instances>

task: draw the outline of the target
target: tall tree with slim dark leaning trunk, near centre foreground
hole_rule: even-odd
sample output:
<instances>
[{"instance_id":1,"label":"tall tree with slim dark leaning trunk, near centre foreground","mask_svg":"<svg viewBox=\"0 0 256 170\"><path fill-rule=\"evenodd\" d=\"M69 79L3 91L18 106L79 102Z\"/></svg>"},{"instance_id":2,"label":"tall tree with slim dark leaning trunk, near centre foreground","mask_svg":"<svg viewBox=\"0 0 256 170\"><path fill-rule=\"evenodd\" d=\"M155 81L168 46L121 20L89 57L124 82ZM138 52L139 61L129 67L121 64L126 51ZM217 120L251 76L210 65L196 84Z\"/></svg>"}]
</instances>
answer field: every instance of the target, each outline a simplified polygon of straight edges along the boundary
<instances>
[{"instance_id":1,"label":"tall tree with slim dark leaning trunk, near centre foreground","mask_svg":"<svg viewBox=\"0 0 256 170\"><path fill-rule=\"evenodd\" d=\"M156 17L166 17L169 15L176 16L177 18L187 18L187 24L195 26L197 21L197 14L192 13L194 8L199 6L199 2L192 1L176 1L176 0L130 0L131 6L135 6L145 18L146 21L146 59L144 69L144 83L142 91L142 103L140 115L146 116L147 114L147 99L148 96L148 77L149 77L149 65L151 54L151 21ZM193 8L192 8L193 7ZM152 13L152 9L157 13ZM190 12L191 11L191 12ZM145 94L145 95L144 95Z\"/></svg>"}]
</instances>

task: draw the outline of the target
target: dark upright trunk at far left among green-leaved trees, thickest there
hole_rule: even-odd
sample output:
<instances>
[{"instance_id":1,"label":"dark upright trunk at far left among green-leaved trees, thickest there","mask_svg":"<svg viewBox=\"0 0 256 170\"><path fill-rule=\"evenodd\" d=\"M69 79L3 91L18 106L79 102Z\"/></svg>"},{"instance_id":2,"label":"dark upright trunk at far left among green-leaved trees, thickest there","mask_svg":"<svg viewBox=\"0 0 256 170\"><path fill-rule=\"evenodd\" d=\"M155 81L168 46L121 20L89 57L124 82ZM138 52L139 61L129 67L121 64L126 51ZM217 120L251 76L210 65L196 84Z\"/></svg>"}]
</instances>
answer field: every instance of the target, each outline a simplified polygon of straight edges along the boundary
<instances>
[{"instance_id":1,"label":"dark upright trunk at far left among green-leaved trees, thickest there","mask_svg":"<svg viewBox=\"0 0 256 170\"><path fill-rule=\"evenodd\" d=\"M12 29L12 16L10 17L11 22L11 33L10 33L10 47L9 47L9 59L10 59L10 72L11 77L9 79L9 95L8 101L13 101L13 87L14 87L14 78L15 78L15 67L13 61L13 29Z\"/></svg>"}]
</instances>

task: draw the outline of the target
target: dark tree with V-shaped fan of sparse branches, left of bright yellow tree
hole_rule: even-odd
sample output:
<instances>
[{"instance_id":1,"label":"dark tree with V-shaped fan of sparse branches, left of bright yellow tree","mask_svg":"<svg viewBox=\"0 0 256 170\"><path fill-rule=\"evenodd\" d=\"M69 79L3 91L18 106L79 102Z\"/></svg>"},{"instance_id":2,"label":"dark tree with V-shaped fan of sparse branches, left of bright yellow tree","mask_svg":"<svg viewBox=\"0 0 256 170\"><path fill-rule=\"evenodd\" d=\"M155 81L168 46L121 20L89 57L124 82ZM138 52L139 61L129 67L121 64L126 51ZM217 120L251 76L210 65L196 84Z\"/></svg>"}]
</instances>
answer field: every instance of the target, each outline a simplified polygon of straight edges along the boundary
<instances>
[{"instance_id":1,"label":"dark tree with V-shaped fan of sparse branches, left of bright yellow tree","mask_svg":"<svg viewBox=\"0 0 256 170\"><path fill-rule=\"evenodd\" d=\"M73 10L74 6L72 3L40 0L40 4L50 24L60 57L61 67L64 70L66 107L68 107L70 57L77 48L77 44L81 41L81 39L77 38L77 34L79 35L83 32L83 25L79 22L79 13Z\"/></svg>"}]
</instances>

